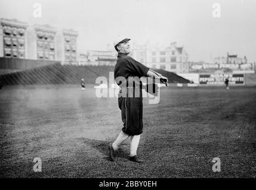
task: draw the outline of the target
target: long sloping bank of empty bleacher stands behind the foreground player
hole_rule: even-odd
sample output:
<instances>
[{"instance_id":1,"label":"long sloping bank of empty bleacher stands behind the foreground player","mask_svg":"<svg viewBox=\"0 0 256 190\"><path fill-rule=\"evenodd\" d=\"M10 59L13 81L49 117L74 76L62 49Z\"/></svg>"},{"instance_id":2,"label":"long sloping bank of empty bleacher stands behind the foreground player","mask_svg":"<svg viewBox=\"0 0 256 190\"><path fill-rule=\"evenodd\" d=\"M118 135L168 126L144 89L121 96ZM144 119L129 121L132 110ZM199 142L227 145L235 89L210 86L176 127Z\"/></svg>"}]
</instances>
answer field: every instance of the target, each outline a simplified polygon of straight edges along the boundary
<instances>
[{"instance_id":1,"label":"long sloping bank of empty bleacher stands behind the foreground player","mask_svg":"<svg viewBox=\"0 0 256 190\"><path fill-rule=\"evenodd\" d=\"M80 84L81 78L84 78L86 84L95 84L97 77L104 76L109 79L110 71L114 71L113 66L76 66L56 63L0 75L0 81L4 85ZM188 80L172 72L162 70L157 72L168 77L169 83L189 83Z\"/></svg>"}]
</instances>

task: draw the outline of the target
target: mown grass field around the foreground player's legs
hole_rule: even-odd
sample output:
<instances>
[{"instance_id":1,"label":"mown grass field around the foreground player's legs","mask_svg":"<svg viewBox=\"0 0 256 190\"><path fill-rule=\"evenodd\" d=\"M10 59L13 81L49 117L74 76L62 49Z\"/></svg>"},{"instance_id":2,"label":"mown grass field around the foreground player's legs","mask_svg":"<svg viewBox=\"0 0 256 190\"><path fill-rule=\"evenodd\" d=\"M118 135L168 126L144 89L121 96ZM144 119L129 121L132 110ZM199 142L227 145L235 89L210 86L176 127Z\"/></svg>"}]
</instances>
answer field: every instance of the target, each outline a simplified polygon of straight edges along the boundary
<instances>
[{"instance_id":1,"label":"mown grass field around the foreground player's legs","mask_svg":"<svg viewBox=\"0 0 256 190\"><path fill-rule=\"evenodd\" d=\"M161 88L144 99L143 164L129 141L109 161L122 128L116 98L79 85L5 86L0 90L1 178L255 178L256 87ZM42 172L33 172L33 159ZM212 171L219 157L221 172Z\"/></svg>"}]
</instances>

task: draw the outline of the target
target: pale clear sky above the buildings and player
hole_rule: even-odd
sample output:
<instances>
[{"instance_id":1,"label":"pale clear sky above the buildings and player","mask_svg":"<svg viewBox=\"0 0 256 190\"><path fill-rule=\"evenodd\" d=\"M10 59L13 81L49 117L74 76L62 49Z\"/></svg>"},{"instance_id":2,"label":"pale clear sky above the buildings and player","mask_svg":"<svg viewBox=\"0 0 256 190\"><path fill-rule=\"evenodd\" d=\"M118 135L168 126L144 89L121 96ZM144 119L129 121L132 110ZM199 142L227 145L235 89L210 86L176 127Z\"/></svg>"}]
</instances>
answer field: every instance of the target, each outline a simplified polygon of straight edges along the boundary
<instances>
[{"instance_id":1,"label":"pale clear sky above the buildings and player","mask_svg":"<svg viewBox=\"0 0 256 190\"><path fill-rule=\"evenodd\" d=\"M33 16L35 3L42 17ZM255 0L0 0L0 18L77 30L81 53L106 50L120 34L131 48L177 42L189 61L211 62L229 52L256 62L255 8Z\"/></svg>"}]
</instances>

